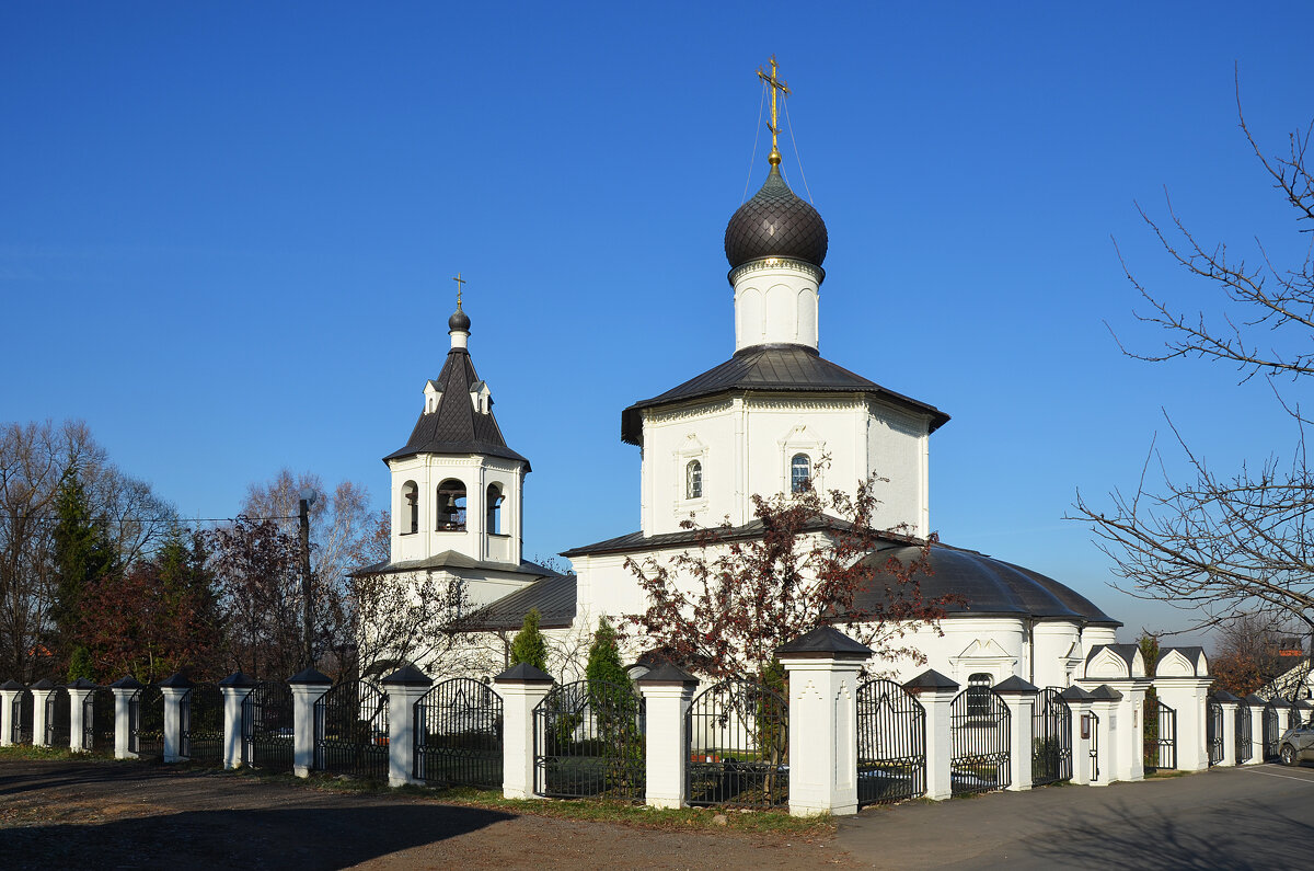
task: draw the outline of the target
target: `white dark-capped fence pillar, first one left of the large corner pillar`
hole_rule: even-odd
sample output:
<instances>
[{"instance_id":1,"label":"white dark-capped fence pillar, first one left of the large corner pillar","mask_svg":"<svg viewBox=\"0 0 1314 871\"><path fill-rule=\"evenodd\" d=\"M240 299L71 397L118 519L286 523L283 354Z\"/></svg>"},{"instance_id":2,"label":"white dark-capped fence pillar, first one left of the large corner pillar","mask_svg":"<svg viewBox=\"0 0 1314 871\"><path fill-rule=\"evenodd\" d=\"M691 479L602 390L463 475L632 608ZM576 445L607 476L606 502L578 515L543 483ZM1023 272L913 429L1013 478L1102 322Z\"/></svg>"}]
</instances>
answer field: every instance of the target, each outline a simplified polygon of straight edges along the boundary
<instances>
[{"instance_id":1,"label":"white dark-capped fence pillar, first one left of the large corner pillar","mask_svg":"<svg viewBox=\"0 0 1314 871\"><path fill-rule=\"evenodd\" d=\"M661 664L637 682L644 695L648 726L644 749L645 800L653 808L683 808L689 801L689 707L698 679L670 663Z\"/></svg>"}]
</instances>

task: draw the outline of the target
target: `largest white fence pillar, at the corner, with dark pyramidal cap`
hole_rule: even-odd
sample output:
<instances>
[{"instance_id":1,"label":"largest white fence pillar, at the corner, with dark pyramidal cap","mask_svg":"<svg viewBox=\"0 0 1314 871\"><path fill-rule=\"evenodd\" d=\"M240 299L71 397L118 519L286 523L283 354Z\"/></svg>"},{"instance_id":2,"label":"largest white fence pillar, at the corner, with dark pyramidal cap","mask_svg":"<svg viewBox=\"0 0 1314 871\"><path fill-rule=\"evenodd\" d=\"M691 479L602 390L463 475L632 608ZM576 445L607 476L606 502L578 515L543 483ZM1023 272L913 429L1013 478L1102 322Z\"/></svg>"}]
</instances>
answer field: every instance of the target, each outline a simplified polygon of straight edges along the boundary
<instances>
[{"instance_id":1,"label":"largest white fence pillar, at the corner, with dark pyramidal cap","mask_svg":"<svg viewBox=\"0 0 1314 871\"><path fill-rule=\"evenodd\" d=\"M775 649L790 675L790 814L858 812L858 672L871 649L817 626Z\"/></svg>"}]
</instances>

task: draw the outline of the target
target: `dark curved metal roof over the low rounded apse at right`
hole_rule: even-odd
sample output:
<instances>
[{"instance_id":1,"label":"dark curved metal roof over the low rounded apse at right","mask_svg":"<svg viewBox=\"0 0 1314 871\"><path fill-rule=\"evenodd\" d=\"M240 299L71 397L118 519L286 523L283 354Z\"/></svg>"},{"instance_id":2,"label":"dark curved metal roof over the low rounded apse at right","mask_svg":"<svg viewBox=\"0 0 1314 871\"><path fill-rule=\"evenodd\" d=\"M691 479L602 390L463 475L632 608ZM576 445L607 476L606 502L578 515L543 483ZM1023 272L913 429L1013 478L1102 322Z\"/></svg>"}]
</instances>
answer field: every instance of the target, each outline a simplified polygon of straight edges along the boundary
<instances>
[{"instance_id":1,"label":"dark curved metal roof over the low rounded apse at right","mask_svg":"<svg viewBox=\"0 0 1314 871\"><path fill-rule=\"evenodd\" d=\"M890 557L896 557L908 566L921 557L921 547L896 543L890 550L874 553L867 559L880 564ZM949 617L1017 616L1108 626L1122 625L1100 610L1089 599L1053 578L986 554L937 543L930 549L929 563L930 571L916 576L922 596L938 599L953 595L962 596L966 601L966 604L947 605L945 610ZM871 610L875 605L883 604L882 599L884 589L869 589L858 595L854 608Z\"/></svg>"}]
</instances>

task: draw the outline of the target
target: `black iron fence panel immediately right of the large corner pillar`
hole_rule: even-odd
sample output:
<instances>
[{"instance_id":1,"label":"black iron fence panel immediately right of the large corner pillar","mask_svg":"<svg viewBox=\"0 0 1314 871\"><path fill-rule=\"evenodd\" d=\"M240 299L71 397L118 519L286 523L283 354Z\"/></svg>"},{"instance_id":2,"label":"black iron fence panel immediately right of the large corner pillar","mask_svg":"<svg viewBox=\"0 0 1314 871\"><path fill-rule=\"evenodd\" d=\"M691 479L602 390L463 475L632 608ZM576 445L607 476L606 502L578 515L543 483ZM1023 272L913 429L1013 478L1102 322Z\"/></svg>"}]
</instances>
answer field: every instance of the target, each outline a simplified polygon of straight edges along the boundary
<instances>
[{"instance_id":1,"label":"black iron fence panel immediately right of the large corner pillar","mask_svg":"<svg viewBox=\"0 0 1314 871\"><path fill-rule=\"evenodd\" d=\"M858 687L858 807L926 792L926 709L892 680Z\"/></svg>"}]
</instances>

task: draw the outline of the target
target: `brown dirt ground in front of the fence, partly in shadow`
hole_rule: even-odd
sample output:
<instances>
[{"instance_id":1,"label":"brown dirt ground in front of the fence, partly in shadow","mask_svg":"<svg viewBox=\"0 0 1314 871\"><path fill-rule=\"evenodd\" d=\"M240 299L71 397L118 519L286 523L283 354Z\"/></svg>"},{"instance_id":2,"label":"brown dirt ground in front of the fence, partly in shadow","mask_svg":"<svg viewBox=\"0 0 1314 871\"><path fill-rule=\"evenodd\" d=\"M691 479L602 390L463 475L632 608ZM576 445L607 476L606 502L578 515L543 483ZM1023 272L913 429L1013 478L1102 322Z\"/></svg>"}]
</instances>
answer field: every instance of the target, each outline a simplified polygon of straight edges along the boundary
<instances>
[{"instance_id":1,"label":"brown dirt ground in front of the fence, partly in shadow","mask_svg":"<svg viewBox=\"0 0 1314 871\"><path fill-rule=\"evenodd\" d=\"M14 868L807 868L830 838L685 833L313 789L214 771L0 760Z\"/></svg>"}]
</instances>

